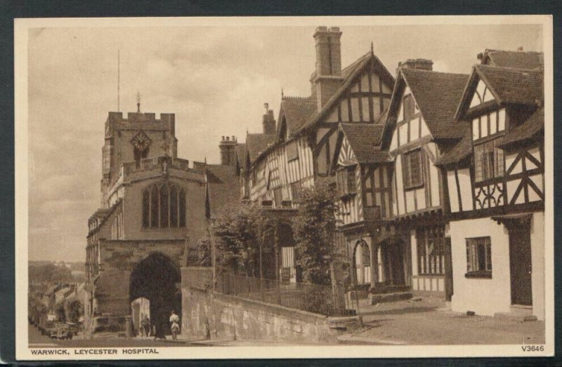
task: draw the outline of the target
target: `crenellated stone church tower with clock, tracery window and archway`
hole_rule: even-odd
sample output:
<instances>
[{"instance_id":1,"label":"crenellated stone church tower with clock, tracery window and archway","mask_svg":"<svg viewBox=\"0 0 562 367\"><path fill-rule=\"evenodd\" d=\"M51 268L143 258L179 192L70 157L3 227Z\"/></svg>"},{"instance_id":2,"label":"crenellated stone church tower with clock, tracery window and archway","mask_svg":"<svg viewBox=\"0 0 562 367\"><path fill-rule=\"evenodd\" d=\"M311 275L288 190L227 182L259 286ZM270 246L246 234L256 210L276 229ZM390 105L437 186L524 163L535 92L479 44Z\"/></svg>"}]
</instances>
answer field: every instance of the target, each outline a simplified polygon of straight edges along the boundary
<instances>
[{"instance_id":1,"label":"crenellated stone church tower with clock, tracery window and archway","mask_svg":"<svg viewBox=\"0 0 562 367\"><path fill-rule=\"evenodd\" d=\"M85 323L119 329L140 312L167 327L181 310L178 285L206 235L207 168L178 159L174 114L110 112L100 208L88 221Z\"/></svg>"}]
</instances>

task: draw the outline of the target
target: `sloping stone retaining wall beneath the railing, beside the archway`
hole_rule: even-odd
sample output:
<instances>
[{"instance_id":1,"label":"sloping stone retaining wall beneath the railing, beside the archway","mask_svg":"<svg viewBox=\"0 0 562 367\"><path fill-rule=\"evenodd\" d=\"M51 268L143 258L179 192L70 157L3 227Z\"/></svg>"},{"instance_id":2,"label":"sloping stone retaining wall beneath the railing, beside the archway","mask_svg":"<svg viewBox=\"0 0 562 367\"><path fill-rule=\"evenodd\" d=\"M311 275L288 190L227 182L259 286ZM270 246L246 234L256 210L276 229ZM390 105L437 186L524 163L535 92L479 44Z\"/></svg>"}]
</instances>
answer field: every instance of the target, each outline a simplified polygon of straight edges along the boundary
<instances>
[{"instance_id":1,"label":"sloping stone retaining wall beneath the railing, beside the archway","mask_svg":"<svg viewBox=\"0 0 562 367\"><path fill-rule=\"evenodd\" d=\"M327 316L213 292L211 288L197 286L200 281L186 278L193 274L182 269L182 332L187 338L336 340L336 330L330 328Z\"/></svg>"}]
</instances>

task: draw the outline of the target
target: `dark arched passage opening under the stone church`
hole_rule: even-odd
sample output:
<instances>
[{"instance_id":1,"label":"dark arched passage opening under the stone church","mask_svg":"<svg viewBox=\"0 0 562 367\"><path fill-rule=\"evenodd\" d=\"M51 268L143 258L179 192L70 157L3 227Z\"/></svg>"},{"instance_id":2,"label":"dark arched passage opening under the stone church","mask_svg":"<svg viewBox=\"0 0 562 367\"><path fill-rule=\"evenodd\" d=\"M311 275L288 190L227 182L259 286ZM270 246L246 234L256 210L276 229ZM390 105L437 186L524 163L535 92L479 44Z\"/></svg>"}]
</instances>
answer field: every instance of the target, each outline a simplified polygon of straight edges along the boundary
<instances>
[{"instance_id":1,"label":"dark arched passage opening under the stone church","mask_svg":"<svg viewBox=\"0 0 562 367\"><path fill-rule=\"evenodd\" d=\"M131 274L129 302L145 298L149 302L151 328L170 334L169 317L181 314L181 274L178 266L162 253L151 253ZM131 309L131 314L133 310Z\"/></svg>"}]
</instances>

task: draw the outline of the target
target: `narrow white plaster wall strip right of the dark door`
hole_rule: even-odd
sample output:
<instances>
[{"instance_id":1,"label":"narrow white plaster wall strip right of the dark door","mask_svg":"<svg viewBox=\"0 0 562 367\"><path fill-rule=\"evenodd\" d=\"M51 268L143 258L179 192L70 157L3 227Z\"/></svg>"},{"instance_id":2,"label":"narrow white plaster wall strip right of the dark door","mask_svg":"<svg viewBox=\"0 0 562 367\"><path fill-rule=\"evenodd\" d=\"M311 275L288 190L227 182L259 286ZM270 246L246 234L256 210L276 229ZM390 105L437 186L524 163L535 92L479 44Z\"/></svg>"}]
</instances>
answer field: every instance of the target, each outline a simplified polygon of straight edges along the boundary
<instances>
[{"instance_id":1,"label":"narrow white plaster wall strip right of the dark door","mask_svg":"<svg viewBox=\"0 0 562 367\"><path fill-rule=\"evenodd\" d=\"M544 320L544 213L531 221L532 314Z\"/></svg>"}]
</instances>

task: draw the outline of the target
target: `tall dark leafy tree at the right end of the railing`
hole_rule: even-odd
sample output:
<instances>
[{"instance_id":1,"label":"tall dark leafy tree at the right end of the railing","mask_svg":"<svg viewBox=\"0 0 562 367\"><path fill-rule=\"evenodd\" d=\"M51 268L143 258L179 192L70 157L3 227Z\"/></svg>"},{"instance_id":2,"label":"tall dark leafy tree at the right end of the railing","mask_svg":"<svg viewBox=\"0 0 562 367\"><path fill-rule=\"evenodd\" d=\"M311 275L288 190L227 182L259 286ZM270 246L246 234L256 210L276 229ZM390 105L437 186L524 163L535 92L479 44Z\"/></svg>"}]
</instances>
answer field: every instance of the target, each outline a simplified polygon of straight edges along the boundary
<instances>
[{"instance_id":1,"label":"tall dark leafy tree at the right end of the railing","mask_svg":"<svg viewBox=\"0 0 562 367\"><path fill-rule=\"evenodd\" d=\"M325 180L303 189L292 229L296 267L305 283L329 285L329 265L337 257L334 243L338 205L336 190Z\"/></svg>"}]
</instances>

